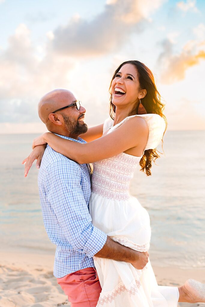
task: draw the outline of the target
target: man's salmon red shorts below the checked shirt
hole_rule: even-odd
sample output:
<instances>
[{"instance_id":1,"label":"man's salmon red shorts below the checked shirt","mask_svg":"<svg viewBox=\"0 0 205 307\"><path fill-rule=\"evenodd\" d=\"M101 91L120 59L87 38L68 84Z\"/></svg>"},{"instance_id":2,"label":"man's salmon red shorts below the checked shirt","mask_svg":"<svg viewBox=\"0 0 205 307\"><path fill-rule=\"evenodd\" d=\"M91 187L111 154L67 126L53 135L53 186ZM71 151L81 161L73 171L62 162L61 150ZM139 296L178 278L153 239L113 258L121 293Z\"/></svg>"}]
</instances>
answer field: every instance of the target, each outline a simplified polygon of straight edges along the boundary
<instances>
[{"instance_id":1,"label":"man's salmon red shorts below the checked shirt","mask_svg":"<svg viewBox=\"0 0 205 307\"><path fill-rule=\"evenodd\" d=\"M101 286L95 268L86 268L57 278L71 307L96 307Z\"/></svg>"}]
</instances>

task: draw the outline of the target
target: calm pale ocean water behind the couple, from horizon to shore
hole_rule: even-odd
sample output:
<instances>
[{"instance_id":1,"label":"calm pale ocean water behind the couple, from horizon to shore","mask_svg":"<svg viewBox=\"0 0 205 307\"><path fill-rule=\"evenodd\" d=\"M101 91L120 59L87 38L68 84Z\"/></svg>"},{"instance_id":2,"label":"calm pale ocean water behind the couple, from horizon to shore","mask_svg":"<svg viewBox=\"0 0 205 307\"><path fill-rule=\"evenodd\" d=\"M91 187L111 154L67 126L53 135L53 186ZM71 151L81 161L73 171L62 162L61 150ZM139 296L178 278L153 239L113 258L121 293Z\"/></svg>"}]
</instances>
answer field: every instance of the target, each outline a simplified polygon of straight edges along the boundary
<instances>
[{"instance_id":1,"label":"calm pale ocean water behind the couple, from horizon to shore","mask_svg":"<svg viewBox=\"0 0 205 307\"><path fill-rule=\"evenodd\" d=\"M21 165L34 137L0 135L0 246L54 255L41 216L38 170L33 166L24 178ZM205 131L168 131L164 152L151 177L136 169L130 187L150 215L151 262L205 267Z\"/></svg>"}]
</instances>

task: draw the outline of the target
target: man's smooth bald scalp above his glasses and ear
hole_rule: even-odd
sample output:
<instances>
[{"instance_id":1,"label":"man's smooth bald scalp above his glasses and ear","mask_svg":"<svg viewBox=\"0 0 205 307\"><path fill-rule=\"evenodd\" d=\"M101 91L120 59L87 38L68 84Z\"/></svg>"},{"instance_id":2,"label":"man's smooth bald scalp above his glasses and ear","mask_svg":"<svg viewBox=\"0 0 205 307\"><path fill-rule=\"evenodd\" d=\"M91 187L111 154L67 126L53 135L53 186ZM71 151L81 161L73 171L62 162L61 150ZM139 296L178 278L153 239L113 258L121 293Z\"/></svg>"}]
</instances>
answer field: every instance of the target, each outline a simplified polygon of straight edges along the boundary
<instances>
[{"instance_id":1,"label":"man's smooth bald scalp above his glasses and ear","mask_svg":"<svg viewBox=\"0 0 205 307\"><path fill-rule=\"evenodd\" d=\"M49 114L53 111L69 105L76 101L71 91L57 89L45 94L38 103L38 115L42 122L47 126L49 123Z\"/></svg>"}]
</instances>

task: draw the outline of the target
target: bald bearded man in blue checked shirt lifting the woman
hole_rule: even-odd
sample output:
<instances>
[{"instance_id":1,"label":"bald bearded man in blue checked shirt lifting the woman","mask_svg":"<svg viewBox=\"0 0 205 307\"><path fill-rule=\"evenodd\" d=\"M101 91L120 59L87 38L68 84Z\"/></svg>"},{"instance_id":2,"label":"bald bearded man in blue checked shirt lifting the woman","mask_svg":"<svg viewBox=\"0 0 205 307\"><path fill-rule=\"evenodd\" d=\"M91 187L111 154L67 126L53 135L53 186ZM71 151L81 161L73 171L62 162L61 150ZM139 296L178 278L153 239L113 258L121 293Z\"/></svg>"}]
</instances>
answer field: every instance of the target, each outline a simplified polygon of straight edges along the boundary
<instances>
[{"instance_id":1,"label":"bald bearded man in blue checked shirt lifting the woman","mask_svg":"<svg viewBox=\"0 0 205 307\"><path fill-rule=\"evenodd\" d=\"M79 135L88 129L85 108L67 90L46 94L38 114L47 129L61 138L84 143ZM35 160L30 155L25 174ZM47 146L38 176L45 229L57 246L53 274L72 307L95 307L101 292L93 256L132 263L142 269L148 253L125 247L92 224L89 215L90 173L86 164L77 164Z\"/></svg>"}]
</instances>

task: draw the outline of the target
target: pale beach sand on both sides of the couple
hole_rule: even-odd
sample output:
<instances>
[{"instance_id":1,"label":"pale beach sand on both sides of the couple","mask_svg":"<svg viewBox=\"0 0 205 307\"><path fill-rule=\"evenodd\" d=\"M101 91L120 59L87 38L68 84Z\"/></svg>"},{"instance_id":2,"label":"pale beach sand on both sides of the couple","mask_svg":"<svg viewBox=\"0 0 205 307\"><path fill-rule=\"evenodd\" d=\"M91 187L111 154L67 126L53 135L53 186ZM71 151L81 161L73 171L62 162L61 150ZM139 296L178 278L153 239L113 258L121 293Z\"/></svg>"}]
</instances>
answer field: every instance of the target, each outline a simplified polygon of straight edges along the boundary
<instances>
[{"instance_id":1,"label":"pale beach sand on both sides of the couple","mask_svg":"<svg viewBox=\"0 0 205 307\"><path fill-rule=\"evenodd\" d=\"M70 306L67 297L53 276L53 258L50 254L1 252L0 307L56 307ZM153 267L159 285L179 286L186 279L205 282L205 269L182 270ZM180 303L180 307L205 304Z\"/></svg>"}]
</instances>

